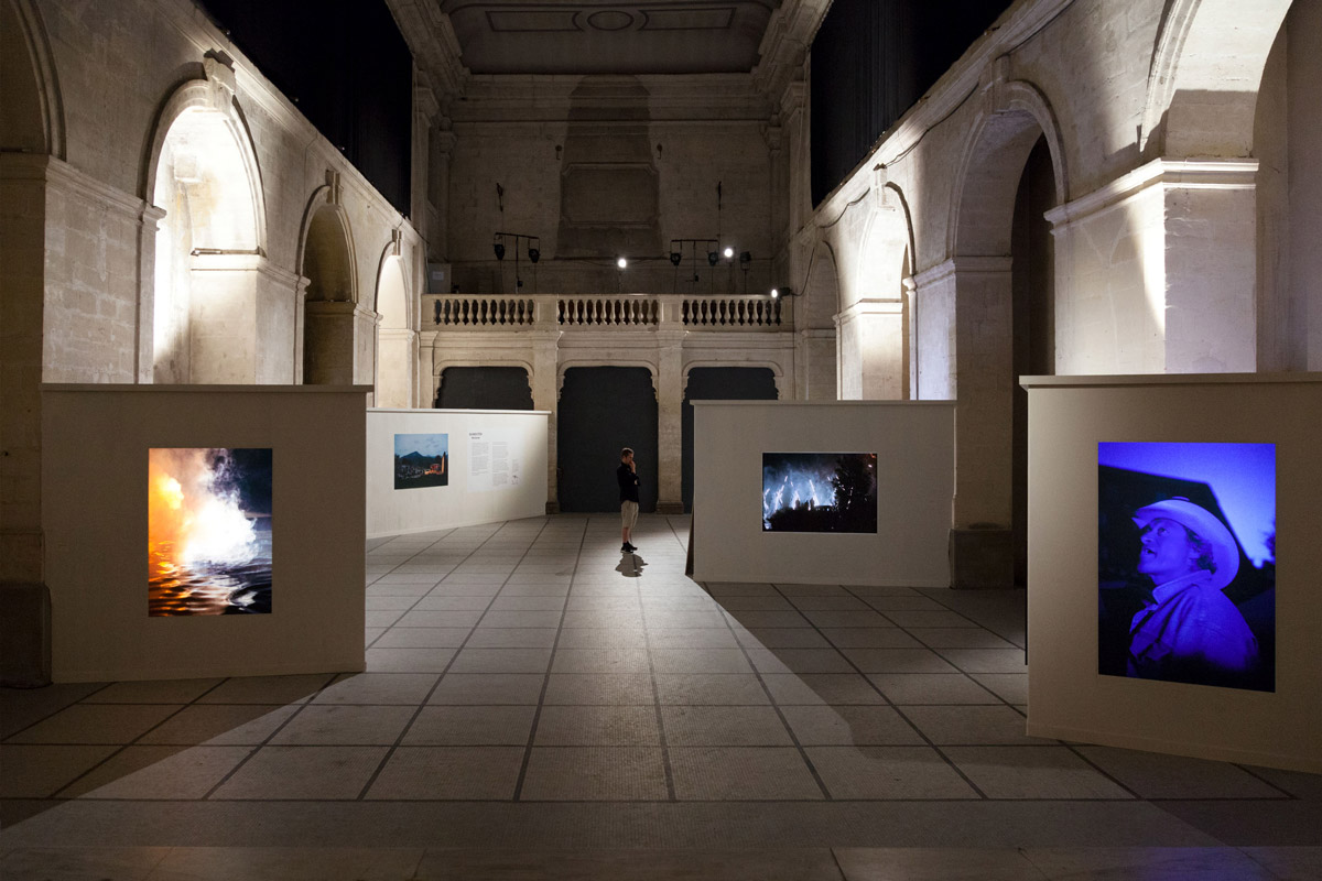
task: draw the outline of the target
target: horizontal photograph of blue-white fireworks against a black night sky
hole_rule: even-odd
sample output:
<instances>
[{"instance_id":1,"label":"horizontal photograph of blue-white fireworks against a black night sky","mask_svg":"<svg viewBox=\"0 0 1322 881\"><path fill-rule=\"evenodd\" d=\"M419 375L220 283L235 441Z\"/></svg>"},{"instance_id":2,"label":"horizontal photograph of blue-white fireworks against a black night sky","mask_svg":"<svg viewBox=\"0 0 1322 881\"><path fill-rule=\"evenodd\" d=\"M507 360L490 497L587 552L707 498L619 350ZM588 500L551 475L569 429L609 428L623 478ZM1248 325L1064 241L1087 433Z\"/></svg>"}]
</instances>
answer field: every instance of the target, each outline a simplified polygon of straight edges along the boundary
<instances>
[{"instance_id":1,"label":"horizontal photograph of blue-white fireworks against a black night sky","mask_svg":"<svg viewBox=\"0 0 1322 881\"><path fill-rule=\"evenodd\" d=\"M876 453L763 453L763 532L876 532Z\"/></svg>"}]
</instances>

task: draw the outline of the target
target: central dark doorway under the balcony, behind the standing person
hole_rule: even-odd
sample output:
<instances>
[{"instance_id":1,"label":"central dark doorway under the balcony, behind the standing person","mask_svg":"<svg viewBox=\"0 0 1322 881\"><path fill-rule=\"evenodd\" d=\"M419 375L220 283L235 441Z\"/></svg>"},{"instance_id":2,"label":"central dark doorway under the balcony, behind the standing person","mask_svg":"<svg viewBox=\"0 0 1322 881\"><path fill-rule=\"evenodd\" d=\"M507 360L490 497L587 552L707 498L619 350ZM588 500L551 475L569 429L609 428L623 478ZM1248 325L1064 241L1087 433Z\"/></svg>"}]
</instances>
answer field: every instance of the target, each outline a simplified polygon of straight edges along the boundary
<instances>
[{"instance_id":1,"label":"central dark doorway under the balcony, behind the standing person","mask_svg":"<svg viewBox=\"0 0 1322 881\"><path fill-rule=\"evenodd\" d=\"M557 413L562 511L619 511L615 469L633 448L639 510L657 507L657 398L645 367L570 367Z\"/></svg>"}]
</instances>

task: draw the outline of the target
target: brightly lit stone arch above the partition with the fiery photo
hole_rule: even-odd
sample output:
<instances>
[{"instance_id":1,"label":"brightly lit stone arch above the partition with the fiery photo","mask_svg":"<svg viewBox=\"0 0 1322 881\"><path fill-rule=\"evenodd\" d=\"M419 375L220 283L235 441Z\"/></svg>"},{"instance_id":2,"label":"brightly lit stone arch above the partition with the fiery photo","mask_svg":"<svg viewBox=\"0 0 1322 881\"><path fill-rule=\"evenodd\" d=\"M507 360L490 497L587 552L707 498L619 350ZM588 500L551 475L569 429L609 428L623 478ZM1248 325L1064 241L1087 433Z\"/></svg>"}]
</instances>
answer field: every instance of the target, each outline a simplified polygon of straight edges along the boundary
<instances>
[{"instance_id":1,"label":"brightly lit stone arch above the partition with the fiery photo","mask_svg":"<svg viewBox=\"0 0 1322 881\"><path fill-rule=\"evenodd\" d=\"M262 375L266 210L253 139L217 57L205 79L171 95L157 119L143 198L164 211L143 292L155 382L251 383ZM144 285L145 288L147 285ZM271 341L275 345L276 341Z\"/></svg>"}]
</instances>

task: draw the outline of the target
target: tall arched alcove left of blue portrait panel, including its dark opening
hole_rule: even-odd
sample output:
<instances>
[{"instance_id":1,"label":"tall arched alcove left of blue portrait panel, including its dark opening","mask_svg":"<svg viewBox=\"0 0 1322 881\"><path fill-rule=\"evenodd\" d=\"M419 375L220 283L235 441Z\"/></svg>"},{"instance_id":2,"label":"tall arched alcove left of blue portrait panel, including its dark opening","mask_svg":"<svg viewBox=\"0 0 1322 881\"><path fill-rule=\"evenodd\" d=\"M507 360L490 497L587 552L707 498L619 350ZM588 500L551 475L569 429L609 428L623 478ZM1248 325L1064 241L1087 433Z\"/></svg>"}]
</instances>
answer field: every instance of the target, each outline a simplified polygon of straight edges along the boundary
<instances>
[{"instance_id":1,"label":"tall arched alcove left of blue portrait panel, including its dark opening","mask_svg":"<svg viewBox=\"0 0 1322 881\"><path fill-rule=\"evenodd\" d=\"M1042 215L1066 198L1063 149L1035 88L1005 83L994 94L973 128L952 206L956 586L1023 577L1027 425L1015 376L1054 372L1046 316L1055 263Z\"/></svg>"}]
</instances>

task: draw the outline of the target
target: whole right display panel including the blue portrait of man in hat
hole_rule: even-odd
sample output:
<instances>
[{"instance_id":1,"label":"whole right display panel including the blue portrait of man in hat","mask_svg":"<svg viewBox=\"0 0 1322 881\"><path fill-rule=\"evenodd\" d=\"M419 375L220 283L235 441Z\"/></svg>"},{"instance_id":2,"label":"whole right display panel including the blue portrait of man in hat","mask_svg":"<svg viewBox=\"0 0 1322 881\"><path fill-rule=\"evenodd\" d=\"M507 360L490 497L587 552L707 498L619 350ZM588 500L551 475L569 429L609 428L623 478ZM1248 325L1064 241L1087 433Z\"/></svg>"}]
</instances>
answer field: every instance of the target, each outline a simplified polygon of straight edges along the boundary
<instances>
[{"instance_id":1,"label":"whole right display panel including the blue portrait of man in hat","mask_svg":"<svg viewBox=\"0 0 1322 881\"><path fill-rule=\"evenodd\" d=\"M1022 384L1029 733L1322 771L1322 375Z\"/></svg>"}]
</instances>

